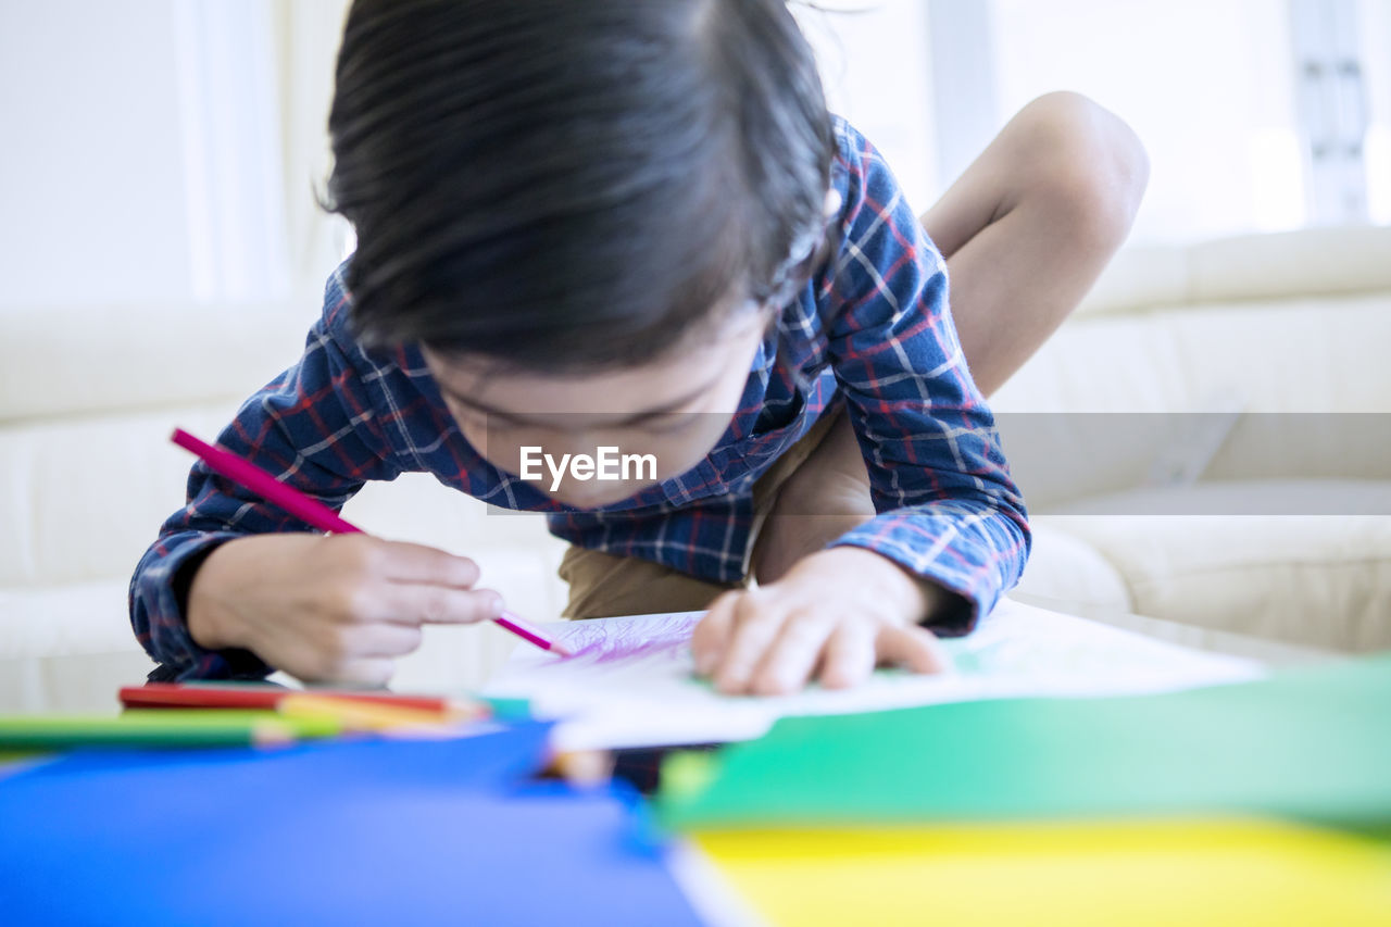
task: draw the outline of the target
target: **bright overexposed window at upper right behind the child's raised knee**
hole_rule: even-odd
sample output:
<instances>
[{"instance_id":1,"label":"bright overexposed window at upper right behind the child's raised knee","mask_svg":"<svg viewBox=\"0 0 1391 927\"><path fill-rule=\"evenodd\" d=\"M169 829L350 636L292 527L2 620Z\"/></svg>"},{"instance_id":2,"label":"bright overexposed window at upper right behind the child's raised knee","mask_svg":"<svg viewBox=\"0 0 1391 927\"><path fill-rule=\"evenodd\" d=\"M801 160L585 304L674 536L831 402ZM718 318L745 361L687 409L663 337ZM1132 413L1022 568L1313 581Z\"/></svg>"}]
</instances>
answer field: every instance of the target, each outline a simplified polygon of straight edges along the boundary
<instances>
[{"instance_id":1,"label":"bright overexposed window at upper right behind the child's raised knee","mask_svg":"<svg viewBox=\"0 0 1391 927\"><path fill-rule=\"evenodd\" d=\"M860 10L801 18L833 106L919 210L1020 107L1068 89L1149 150L1134 241L1391 221L1391 0L819 6ZM1333 75L1314 90L1310 61Z\"/></svg>"}]
</instances>

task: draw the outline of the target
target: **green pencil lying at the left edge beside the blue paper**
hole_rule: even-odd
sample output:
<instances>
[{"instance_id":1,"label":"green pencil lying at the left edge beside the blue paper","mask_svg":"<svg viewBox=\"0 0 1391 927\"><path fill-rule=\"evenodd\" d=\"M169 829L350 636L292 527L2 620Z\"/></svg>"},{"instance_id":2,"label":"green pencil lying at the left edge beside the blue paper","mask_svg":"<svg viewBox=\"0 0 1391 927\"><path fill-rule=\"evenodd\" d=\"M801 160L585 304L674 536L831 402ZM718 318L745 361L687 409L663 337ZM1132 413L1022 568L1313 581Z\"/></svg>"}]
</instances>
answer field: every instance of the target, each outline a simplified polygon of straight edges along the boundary
<instances>
[{"instance_id":1,"label":"green pencil lying at the left edge beside the blue paper","mask_svg":"<svg viewBox=\"0 0 1391 927\"><path fill-rule=\"evenodd\" d=\"M206 747L294 743L325 738L342 727L328 717L288 718L274 711L135 710L104 714L0 715L0 750L113 747Z\"/></svg>"}]
</instances>

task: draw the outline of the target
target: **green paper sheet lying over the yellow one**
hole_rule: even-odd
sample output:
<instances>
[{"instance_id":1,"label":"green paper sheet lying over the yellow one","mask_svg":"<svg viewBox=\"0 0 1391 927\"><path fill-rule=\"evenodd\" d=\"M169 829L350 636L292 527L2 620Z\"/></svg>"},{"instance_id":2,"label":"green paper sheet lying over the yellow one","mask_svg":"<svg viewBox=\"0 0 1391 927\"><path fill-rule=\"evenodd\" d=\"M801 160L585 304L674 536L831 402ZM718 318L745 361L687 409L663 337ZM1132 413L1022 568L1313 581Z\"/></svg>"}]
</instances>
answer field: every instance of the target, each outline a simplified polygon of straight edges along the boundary
<instances>
[{"instance_id":1,"label":"green paper sheet lying over the yellow one","mask_svg":"<svg viewBox=\"0 0 1391 927\"><path fill-rule=\"evenodd\" d=\"M1391 654L1120 699L1010 699L779 721L677 754L676 827L1263 813L1391 824Z\"/></svg>"}]
</instances>

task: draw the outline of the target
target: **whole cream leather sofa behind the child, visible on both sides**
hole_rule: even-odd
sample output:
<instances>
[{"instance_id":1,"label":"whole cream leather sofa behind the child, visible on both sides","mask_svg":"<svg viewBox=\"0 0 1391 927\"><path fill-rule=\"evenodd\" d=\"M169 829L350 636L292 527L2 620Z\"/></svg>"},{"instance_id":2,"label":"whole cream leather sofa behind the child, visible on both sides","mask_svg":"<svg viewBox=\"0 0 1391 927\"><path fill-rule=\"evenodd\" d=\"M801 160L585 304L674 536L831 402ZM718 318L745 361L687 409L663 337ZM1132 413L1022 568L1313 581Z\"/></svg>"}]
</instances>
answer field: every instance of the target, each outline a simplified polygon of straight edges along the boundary
<instances>
[{"instance_id":1,"label":"whole cream leather sofa behind the child, visible on both sides","mask_svg":"<svg viewBox=\"0 0 1391 927\"><path fill-rule=\"evenodd\" d=\"M1213 397L1238 397L1246 412L1391 411L1388 256L1387 228L1123 252L997 397L1007 451L1015 423L1038 420L1024 413L1189 412ZM125 596L140 553L182 504L191 461L168 433L216 436L294 360L316 312L307 294L282 305L0 313L0 711L108 707L118 685L143 678L150 664ZM1391 646L1391 519L1135 515L1136 493L1171 507L1174 493L1210 487L1136 489L1163 447L1121 450L1082 480L1021 468L1031 504L1046 512L1025 593L1093 614ZM1249 461L1219 454L1205 479L1241 476L1246 491L1276 497L1337 480L1335 491L1391 511L1391 454L1360 455L1367 472L1351 475L1316 458L1283 455L1284 469L1264 475L1285 480L1274 486L1251 483ZM534 516L488 514L423 476L371 486L345 514L384 536L467 553L522 614L559 612L562 546ZM430 629L396 683L476 686L512 646L491 626Z\"/></svg>"}]
</instances>

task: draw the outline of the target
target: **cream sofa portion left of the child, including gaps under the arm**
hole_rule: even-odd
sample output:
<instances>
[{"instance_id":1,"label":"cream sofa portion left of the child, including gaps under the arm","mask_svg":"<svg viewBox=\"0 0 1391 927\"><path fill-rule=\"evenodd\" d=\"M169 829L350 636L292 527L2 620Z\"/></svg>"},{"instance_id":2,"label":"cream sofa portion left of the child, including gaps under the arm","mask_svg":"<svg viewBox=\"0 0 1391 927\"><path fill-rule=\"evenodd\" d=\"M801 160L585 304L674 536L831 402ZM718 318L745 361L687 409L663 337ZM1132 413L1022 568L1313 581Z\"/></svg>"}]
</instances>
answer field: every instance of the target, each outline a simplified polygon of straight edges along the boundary
<instances>
[{"instance_id":1,"label":"cream sofa portion left of the child, including gaps under the arm","mask_svg":"<svg viewBox=\"0 0 1391 927\"><path fill-rule=\"evenodd\" d=\"M0 313L0 711L97 708L153 668L127 618L131 571L184 504L192 458L299 355L317 296L278 305L35 308ZM520 614L559 614L563 546L538 516L490 514L408 475L345 516L387 537L467 551ZM430 628L402 688L470 686L515 637Z\"/></svg>"}]
</instances>

